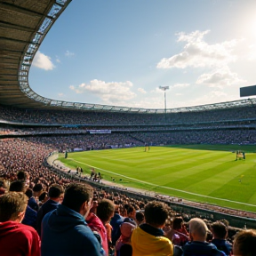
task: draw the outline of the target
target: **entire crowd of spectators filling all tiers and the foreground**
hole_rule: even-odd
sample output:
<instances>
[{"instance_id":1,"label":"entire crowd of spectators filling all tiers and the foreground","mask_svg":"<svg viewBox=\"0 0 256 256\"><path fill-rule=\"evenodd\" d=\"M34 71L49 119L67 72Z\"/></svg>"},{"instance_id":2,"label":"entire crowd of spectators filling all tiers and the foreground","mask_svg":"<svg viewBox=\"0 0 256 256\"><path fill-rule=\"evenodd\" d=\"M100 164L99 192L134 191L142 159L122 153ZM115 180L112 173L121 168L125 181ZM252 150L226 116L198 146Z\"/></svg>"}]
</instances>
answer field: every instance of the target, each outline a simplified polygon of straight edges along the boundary
<instances>
[{"instance_id":1,"label":"entire crowd of spectators filling all tiers and the foreground","mask_svg":"<svg viewBox=\"0 0 256 256\"><path fill-rule=\"evenodd\" d=\"M82 111L74 111L75 115L69 115L68 111L0 108L3 110L0 111L0 118L4 120L16 122L22 120L23 123L37 124L88 122L96 125L123 122L124 125L140 124L142 120L142 123L156 124L161 123L163 121L161 118L164 117L163 115L143 115L141 118L141 115L134 114ZM236 116L233 116L234 110L231 110L212 110L209 111L209 116L204 116L201 112L170 114L167 120L173 124L184 120L191 123L199 122L202 121L200 118L203 116L205 122L210 119L219 121L222 117L226 120L227 118L237 120L251 118L255 111L254 108L249 107L237 108ZM248 112L245 113L245 110ZM244 117L242 112L246 114ZM147 117L144 118L145 116ZM99 126L94 128L99 129ZM134 127L134 129L138 128L140 129L139 126ZM157 128L164 130L165 127ZM1 139L0 195L4 196L0 196L0 254L8 255L13 252L13 255L35 256L40 253L42 256L153 254L179 256L183 253L184 256L225 256L232 252L235 256L255 255L253 241L256 239L256 231L254 230L231 228L227 220L204 220L203 216L198 216L196 213L175 212L169 206L172 205L172 200L165 200L165 204L161 196L156 197L158 201L151 201L142 195L133 198L120 191L114 192L111 188L92 188L89 185L80 184L81 180L73 180L71 176L64 173L54 172L54 168L44 164L45 158L53 151L124 148L144 146L145 143L166 145L256 142L256 131L253 129L205 129L205 131L193 129L193 131L172 132L148 132L147 129L151 131L150 127L142 129L146 132L89 134L86 129L72 127L26 128L14 132L23 132L23 134L28 132L27 135L57 132L58 136ZM12 128L2 128L1 132L6 135L13 131ZM6 207L7 213L3 211L7 209ZM212 208L212 211L215 210ZM219 210L236 214L235 210L233 212L224 208ZM243 216L244 212L240 213ZM29 228L26 228L27 226ZM12 234L10 240L9 236L6 236L8 232ZM16 243L16 246L11 243L11 240L19 243ZM64 244L63 241L65 241ZM40 243L42 243L41 249Z\"/></svg>"}]
</instances>

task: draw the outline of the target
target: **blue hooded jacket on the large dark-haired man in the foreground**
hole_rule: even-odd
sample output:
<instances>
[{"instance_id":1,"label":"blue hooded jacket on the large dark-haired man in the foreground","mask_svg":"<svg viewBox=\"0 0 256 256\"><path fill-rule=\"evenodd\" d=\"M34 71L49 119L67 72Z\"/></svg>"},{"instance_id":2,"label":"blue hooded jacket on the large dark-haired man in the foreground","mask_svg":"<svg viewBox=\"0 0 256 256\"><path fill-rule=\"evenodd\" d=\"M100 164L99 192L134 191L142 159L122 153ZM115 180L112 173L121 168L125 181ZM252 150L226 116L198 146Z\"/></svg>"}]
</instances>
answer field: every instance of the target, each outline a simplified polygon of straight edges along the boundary
<instances>
[{"instance_id":1,"label":"blue hooded jacket on the large dark-haired man in the foreground","mask_svg":"<svg viewBox=\"0 0 256 256\"><path fill-rule=\"evenodd\" d=\"M102 256L84 216L60 204L42 220L42 256Z\"/></svg>"}]
</instances>

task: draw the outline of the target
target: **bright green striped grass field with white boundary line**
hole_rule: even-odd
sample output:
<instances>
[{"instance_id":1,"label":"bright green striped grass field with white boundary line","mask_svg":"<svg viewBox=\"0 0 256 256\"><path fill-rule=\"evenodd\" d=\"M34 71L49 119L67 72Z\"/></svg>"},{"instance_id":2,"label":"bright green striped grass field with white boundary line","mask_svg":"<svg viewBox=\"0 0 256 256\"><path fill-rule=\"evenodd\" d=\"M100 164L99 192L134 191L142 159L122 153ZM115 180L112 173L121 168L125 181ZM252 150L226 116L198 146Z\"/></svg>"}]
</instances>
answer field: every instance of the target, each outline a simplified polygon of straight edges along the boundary
<instances>
[{"instance_id":1,"label":"bright green striped grass field with white boundary line","mask_svg":"<svg viewBox=\"0 0 256 256\"><path fill-rule=\"evenodd\" d=\"M245 160L236 161L237 149ZM60 161L85 173L94 167L104 180L126 187L255 212L255 152L255 146L235 145L122 148L68 153Z\"/></svg>"}]
</instances>

